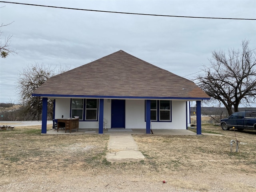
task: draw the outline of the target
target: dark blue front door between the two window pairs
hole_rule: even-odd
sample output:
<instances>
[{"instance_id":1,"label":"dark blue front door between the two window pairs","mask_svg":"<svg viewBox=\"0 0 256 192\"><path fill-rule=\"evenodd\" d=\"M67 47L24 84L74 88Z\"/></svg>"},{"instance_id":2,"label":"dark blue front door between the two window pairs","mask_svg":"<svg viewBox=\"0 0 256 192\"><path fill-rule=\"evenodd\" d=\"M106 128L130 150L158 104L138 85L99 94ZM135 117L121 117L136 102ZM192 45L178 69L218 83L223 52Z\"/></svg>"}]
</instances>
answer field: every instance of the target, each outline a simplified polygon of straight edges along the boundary
<instances>
[{"instance_id":1,"label":"dark blue front door between the two window pairs","mask_svg":"<svg viewBox=\"0 0 256 192\"><path fill-rule=\"evenodd\" d=\"M111 128L125 128L125 100L111 100Z\"/></svg>"}]
</instances>

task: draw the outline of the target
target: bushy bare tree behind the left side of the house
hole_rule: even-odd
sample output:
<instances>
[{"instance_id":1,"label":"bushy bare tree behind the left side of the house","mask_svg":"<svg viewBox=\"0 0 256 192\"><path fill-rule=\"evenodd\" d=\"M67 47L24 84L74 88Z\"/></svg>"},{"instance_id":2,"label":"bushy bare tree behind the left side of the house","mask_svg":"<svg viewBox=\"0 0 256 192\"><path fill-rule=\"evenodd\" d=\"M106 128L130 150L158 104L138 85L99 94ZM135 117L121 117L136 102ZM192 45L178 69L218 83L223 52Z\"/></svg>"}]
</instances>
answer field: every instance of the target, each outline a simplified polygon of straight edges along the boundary
<instances>
[{"instance_id":1,"label":"bushy bare tree behind the left side of the house","mask_svg":"<svg viewBox=\"0 0 256 192\"><path fill-rule=\"evenodd\" d=\"M60 69L56 72L52 65L45 66L44 64L35 63L19 72L16 88L23 105L21 110L24 120L40 120L42 118L42 98L33 97L32 92L46 82L48 78L65 70ZM53 102L48 100L49 118L52 118L52 109Z\"/></svg>"}]
</instances>

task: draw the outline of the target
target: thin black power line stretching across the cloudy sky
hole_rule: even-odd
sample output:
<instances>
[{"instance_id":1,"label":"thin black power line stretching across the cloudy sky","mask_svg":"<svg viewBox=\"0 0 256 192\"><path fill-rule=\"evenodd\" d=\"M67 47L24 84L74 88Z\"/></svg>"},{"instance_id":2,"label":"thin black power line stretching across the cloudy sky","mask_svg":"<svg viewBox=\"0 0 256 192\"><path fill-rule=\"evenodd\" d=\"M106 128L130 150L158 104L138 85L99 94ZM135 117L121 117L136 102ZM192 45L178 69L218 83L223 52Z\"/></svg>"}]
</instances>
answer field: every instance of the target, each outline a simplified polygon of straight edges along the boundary
<instances>
[{"instance_id":1,"label":"thin black power line stretching across the cloudy sky","mask_svg":"<svg viewBox=\"0 0 256 192\"><path fill-rule=\"evenodd\" d=\"M8 2L8 1L0 1L0 2L1 3L11 3L11 4L20 4L20 5L40 6L40 7L60 8L60 9L80 10L80 11L94 11L94 12L117 13L117 14L131 14L131 15L145 15L145 16L180 17L180 18L197 18L197 19L200 18L200 19L256 20L256 19L249 19L249 18L195 17L195 16L176 16L176 15L129 13L129 12L103 11L103 10L79 9L79 8L70 8L70 7L58 7L58 6L28 4L28 3L17 3L17 2Z\"/></svg>"}]
</instances>

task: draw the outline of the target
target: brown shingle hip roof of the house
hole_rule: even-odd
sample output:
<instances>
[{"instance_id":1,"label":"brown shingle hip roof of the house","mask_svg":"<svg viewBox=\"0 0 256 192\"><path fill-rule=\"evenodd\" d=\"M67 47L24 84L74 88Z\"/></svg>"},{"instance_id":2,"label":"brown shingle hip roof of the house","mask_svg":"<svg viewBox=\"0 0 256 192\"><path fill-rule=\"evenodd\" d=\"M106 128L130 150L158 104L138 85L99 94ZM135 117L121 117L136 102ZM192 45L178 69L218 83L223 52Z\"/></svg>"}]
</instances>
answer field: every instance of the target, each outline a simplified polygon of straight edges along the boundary
<instances>
[{"instance_id":1,"label":"brown shingle hip roof of the house","mask_svg":"<svg viewBox=\"0 0 256 192\"><path fill-rule=\"evenodd\" d=\"M194 82L122 50L49 78L33 95L210 98Z\"/></svg>"}]
</instances>

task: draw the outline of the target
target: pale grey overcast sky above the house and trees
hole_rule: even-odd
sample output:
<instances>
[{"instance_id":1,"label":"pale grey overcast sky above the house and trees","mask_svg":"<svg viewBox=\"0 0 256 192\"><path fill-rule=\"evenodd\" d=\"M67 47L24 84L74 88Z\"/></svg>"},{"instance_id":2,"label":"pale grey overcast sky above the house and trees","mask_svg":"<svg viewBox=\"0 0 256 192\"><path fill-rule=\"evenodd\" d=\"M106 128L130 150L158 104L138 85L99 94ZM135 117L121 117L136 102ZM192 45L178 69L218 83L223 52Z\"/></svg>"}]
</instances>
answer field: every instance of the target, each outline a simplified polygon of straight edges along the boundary
<instances>
[{"instance_id":1,"label":"pale grey overcast sky above the house and trees","mask_svg":"<svg viewBox=\"0 0 256 192\"><path fill-rule=\"evenodd\" d=\"M176 16L256 18L255 0L11 1L90 10ZM19 103L19 71L35 62L76 68L118 50L192 79L214 50L256 48L256 20L114 14L0 3L1 41L12 36L18 54L0 59L0 102ZM104 75L104 74L100 74ZM75 78L75 77L74 77Z\"/></svg>"}]
</instances>

